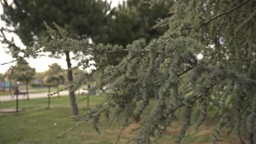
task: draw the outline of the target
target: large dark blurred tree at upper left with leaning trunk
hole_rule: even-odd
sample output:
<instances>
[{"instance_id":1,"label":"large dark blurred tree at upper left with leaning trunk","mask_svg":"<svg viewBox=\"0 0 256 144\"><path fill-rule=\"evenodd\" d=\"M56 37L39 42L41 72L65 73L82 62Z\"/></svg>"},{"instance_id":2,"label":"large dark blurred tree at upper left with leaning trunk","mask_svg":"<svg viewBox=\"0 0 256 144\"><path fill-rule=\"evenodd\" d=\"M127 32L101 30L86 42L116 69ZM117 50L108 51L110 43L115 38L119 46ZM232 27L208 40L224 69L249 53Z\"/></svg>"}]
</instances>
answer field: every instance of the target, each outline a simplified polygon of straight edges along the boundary
<instances>
[{"instance_id":1,"label":"large dark blurred tree at upper left with leaning trunk","mask_svg":"<svg viewBox=\"0 0 256 144\"><path fill-rule=\"evenodd\" d=\"M108 22L110 16L110 5L106 1L1 1L3 6L3 14L1 19L5 21L8 27L14 27L22 43L27 46L26 55L35 51L33 47L37 43L38 38L48 37L45 33L44 21L50 23L56 22L61 27L68 29L68 35L72 38L84 39L90 38L93 41L99 41L106 36L105 23ZM8 30L7 30L8 31ZM13 41L5 42L9 44L9 49L14 56L18 56L19 47L15 46ZM23 50L24 51L24 50ZM71 69L71 51L63 51L62 47L55 47L50 50L51 56L66 56L68 67L68 81L73 81ZM73 51L78 54L79 51ZM35 54L35 53L34 53ZM72 115L78 115L77 104L75 104L75 94L69 92L72 107Z\"/></svg>"}]
</instances>

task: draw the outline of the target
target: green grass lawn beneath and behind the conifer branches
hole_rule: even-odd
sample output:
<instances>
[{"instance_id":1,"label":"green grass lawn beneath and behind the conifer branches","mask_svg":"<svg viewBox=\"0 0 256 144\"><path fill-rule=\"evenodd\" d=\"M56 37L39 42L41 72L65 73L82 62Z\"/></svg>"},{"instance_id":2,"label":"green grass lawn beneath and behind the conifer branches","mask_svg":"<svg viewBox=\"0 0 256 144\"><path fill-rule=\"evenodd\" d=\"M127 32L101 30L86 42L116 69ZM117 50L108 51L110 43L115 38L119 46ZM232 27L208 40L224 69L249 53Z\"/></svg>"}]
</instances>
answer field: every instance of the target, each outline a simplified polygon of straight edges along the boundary
<instances>
[{"instance_id":1,"label":"green grass lawn beneath and behind the conifer branches","mask_svg":"<svg viewBox=\"0 0 256 144\"><path fill-rule=\"evenodd\" d=\"M82 95L78 95L77 99L82 99ZM90 97L90 106L94 107L97 103L104 100L104 95ZM154 100L150 101L150 105L143 113L146 117L154 105ZM79 103L79 112L84 113L86 110L86 101ZM88 127L88 123L69 131L67 134L57 136L62 131L71 128L77 122L69 121L71 110L69 106L69 97L51 98L51 109L47 107L47 99L33 99L30 101L20 100L19 107L26 111L18 114L0 114L0 143L114 143L119 134L119 127L116 125L112 128L106 118L101 119L101 135L96 131L84 131ZM15 101L0 103L0 109L15 108ZM136 134L132 131L138 127L138 123L131 124L124 131L123 136L130 137ZM161 140L157 143L173 143L175 135L177 135L182 122L173 122L171 127L167 128ZM214 127L208 120L201 126L199 133L191 135L190 131L181 143L211 143L211 133ZM237 140L231 133L229 136L220 137L219 143L236 143ZM119 143L125 143L121 140Z\"/></svg>"}]
</instances>

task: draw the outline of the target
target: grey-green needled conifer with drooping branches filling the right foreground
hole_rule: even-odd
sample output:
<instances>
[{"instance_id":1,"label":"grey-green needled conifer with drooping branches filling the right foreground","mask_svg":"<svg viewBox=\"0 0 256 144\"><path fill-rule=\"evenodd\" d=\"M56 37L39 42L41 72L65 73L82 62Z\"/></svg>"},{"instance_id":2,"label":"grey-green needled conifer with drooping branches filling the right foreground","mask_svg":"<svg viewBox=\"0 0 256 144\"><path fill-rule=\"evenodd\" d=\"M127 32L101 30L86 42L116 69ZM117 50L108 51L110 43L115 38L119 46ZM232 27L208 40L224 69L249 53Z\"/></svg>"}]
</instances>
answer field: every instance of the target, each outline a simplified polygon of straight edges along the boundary
<instances>
[{"instance_id":1,"label":"grey-green needled conifer with drooping branches filling the right foreground","mask_svg":"<svg viewBox=\"0 0 256 144\"><path fill-rule=\"evenodd\" d=\"M160 2L164 1L152 1L151 7ZM95 74L100 82L89 94L109 84L106 100L96 109L71 117L79 121L74 127L90 121L89 129L100 133L100 117L112 110L113 115L107 115L110 122L121 123L117 142L125 138L127 142L152 143L169 124L182 118L181 131L173 142L180 143L190 127L195 133L200 129L207 111L215 107L219 111L213 143L226 128L234 128L238 142L255 143L256 81L251 75L255 73L255 7L252 0L173 1L172 15L155 25L168 26L165 34L150 41L141 38L126 47L73 39L60 26L46 25L51 39L40 40L34 52L61 47L86 55L73 68L95 69L74 80L69 86L72 91ZM236 32L243 32L238 39ZM128 54L117 65L109 65L109 55L114 52ZM141 119L155 87L159 99L148 117ZM194 107L201 108L196 121ZM133 122L140 122L137 135L123 137L122 131Z\"/></svg>"}]
</instances>

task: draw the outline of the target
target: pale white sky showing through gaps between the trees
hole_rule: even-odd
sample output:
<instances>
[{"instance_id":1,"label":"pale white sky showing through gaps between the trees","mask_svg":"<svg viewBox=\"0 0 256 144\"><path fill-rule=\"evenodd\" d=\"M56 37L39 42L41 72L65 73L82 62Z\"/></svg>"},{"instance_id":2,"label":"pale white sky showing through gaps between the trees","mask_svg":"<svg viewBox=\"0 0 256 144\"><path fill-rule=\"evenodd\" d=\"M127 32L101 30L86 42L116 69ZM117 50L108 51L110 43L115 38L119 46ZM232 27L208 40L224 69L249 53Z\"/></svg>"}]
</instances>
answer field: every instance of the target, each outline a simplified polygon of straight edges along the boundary
<instances>
[{"instance_id":1,"label":"pale white sky showing through gaps between the trees","mask_svg":"<svg viewBox=\"0 0 256 144\"><path fill-rule=\"evenodd\" d=\"M107 0L107 1L112 1L112 7L115 7L118 5L118 3L123 2L125 0ZM0 14L3 13L2 5L0 5ZM5 27L5 23L0 20L0 28ZM24 47L25 46L21 43L21 40L19 37L15 34L5 34L8 39L11 39L11 37L14 37L15 44ZM0 64L5 63L5 62L10 62L13 60L13 58L6 52L8 49L3 49L3 45L0 42ZM42 53L47 55L48 53ZM38 57L36 59L33 58L26 58L26 61L30 64L32 68L36 68L37 72L42 72L45 70L48 70L48 65L52 63L58 63L61 65L63 69L67 69L67 63L65 61L65 56L61 59L57 58L50 58L46 56ZM74 65L76 62L72 61L72 64ZM15 65L16 63L10 63L10 64L5 64L5 65L0 65L0 73L5 73L11 65Z\"/></svg>"}]
</instances>

